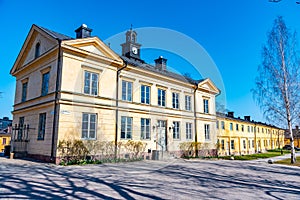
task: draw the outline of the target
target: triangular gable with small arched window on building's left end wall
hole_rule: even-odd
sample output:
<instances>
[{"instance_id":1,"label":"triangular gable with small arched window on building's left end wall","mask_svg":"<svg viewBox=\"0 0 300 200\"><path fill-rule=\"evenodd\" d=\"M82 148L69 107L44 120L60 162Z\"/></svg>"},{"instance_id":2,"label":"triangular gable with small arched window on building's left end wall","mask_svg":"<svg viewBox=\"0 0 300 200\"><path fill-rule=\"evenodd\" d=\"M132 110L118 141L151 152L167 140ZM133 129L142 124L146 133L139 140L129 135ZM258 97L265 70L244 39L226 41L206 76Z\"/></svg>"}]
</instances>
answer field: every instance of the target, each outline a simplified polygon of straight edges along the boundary
<instances>
[{"instance_id":1,"label":"triangular gable with small arched window on building's left end wall","mask_svg":"<svg viewBox=\"0 0 300 200\"><path fill-rule=\"evenodd\" d=\"M32 25L19 52L19 55L11 69L11 74L14 74L28 63L35 60L35 50L38 43L40 45L39 55L43 55L58 44L57 40L53 36L49 35L40 27Z\"/></svg>"}]
</instances>

